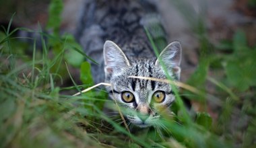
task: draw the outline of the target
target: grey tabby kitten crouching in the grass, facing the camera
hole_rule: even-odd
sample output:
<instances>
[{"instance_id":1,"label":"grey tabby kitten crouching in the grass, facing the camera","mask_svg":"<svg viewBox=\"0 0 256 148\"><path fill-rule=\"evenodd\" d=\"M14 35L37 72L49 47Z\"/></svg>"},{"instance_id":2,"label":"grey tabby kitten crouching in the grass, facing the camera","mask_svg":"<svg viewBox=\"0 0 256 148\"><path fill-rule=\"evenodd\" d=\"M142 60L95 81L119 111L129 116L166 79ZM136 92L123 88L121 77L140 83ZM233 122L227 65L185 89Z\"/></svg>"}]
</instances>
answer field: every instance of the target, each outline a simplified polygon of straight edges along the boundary
<instances>
[{"instance_id":1,"label":"grey tabby kitten crouching in the grass, facing the camera","mask_svg":"<svg viewBox=\"0 0 256 148\"><path fill-rule=\"evenodd\" d=\"M162 61L172 79L179 81L181 44L174 41L163 46L166 34L154 1L96 0L84 5L76 38L86 54L99 63L92 63L94 81L113 86L106 87L109 97L122 110L128 110L123 114L129 122L141 128L154 126L161 118L160 112L168 110L175 100L172 87L129 76L166 79ZM158 59L144 28L160 42Z\"/></svg>"}]
</instances>

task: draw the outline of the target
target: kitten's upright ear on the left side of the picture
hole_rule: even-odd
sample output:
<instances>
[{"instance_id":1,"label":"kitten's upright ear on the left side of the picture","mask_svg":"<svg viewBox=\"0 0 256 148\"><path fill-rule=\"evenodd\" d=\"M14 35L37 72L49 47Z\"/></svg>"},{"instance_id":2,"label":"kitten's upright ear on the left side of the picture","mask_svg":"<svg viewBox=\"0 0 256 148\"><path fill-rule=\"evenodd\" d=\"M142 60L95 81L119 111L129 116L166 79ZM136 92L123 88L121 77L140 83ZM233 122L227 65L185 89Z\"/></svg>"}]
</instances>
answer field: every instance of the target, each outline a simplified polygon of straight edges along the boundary
<instances>
[{"instance_id":1,"label":"kitten's upright ear on the left side of the picture","mask_svg":"<svg viewBox=\"0 0 256 148\"><path fill-rule=\"evenodd\" d=\"M103 50L104 70L106 75L112 75L113 72L118 74L122 69L130 65L121 48L114 42L106 40Z\"/></svg>"}]
</instances>

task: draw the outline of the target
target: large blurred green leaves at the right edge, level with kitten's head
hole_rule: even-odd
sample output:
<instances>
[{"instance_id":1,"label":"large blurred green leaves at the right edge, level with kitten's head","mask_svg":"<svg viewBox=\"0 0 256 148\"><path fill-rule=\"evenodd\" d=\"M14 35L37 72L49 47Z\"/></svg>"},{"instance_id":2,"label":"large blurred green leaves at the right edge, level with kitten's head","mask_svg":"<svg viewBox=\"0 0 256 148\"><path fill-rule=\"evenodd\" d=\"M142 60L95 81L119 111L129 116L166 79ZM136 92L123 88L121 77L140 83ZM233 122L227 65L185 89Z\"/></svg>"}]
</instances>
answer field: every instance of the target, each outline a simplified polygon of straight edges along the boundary
<instances>
[{"instance_id":1,"label":"large blurred green leaves at the right edge, level with kitten's head","mask_svg":"<svg viewBox=\"0 0 256 148\"><path fill-rule=\"evenodd\" d=\"M237 31L232 40L232 54L226 59L225 71L231 85L240 91L256 86L256 48L249 48L245 33Z\"/></svg>"}]
</instances>

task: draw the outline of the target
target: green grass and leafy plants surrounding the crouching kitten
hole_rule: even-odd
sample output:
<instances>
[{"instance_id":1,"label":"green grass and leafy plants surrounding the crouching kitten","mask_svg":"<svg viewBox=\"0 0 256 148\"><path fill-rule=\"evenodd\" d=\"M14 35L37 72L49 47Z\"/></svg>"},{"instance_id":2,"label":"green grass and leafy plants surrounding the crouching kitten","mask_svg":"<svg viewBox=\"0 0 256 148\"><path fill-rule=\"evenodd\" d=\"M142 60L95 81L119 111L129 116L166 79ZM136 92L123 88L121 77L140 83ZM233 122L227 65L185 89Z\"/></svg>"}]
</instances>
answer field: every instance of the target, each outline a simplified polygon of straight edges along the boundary
<instances>
[{"instance_id":1,"label":"green grass and leafy plants surrounding the crouching kitten","mask_svg":"<svg viewBox=\"0 0 256 148\"><path fill-rule=\"evenodd\" d=\"M163 115L159 127L131 133L119 116L105 115L103 106L111 102L104 89L72 96L94 84L88 61L95 61L73 36L59 34L62 9L61 1L51 2L51 34L10 30L13 19L0 32L0 147L256 147L256 48L247 46L241 30L213 46L203 23L194 26L200 59L187 84L197 91L176 91L173 116ZM30 46L15 36L19 30L40 38L28 38ZM79 79L69 70L74 68L80 69ZM67 81L73 85L63 87ZM212 91L205 88L209 83ZM201 110L188 112L182 98ZM216 118L209 114L211 104L217 106Z\"/></svg>"}]
</instances>

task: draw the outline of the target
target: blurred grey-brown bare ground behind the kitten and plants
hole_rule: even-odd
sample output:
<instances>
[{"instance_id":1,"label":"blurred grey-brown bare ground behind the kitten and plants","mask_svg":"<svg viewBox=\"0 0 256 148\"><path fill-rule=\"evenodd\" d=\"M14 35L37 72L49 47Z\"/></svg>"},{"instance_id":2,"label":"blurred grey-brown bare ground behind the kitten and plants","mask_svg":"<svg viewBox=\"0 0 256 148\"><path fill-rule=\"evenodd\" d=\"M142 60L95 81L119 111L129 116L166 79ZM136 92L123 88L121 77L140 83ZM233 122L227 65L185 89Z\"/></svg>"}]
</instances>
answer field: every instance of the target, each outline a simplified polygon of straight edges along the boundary
<instances>
[{"instance_id":1,"label":"blurred grey-brown bare ground behind the kitten and plants","mask_svg":"<svg viewBox=\"0 0 256 148\"><path fill-rule=\"evenodd\" d=\"M61 14L61 32L73 33L79 24L84 9L83 0L64 0ZM0 1L0 24L7 26L15 13L12 28L35 29L38 24L46 27L49 18L50 0ZM255 0L162 0L157 3L162 20L167 28L169 42L179 40L183 45L182 81L187 81L198 63L199 23L203 23L203 34L214 45L231 40L236 30L243 30L248 46L256 45L256 2Z\"/></svg>"}]
</instances>

